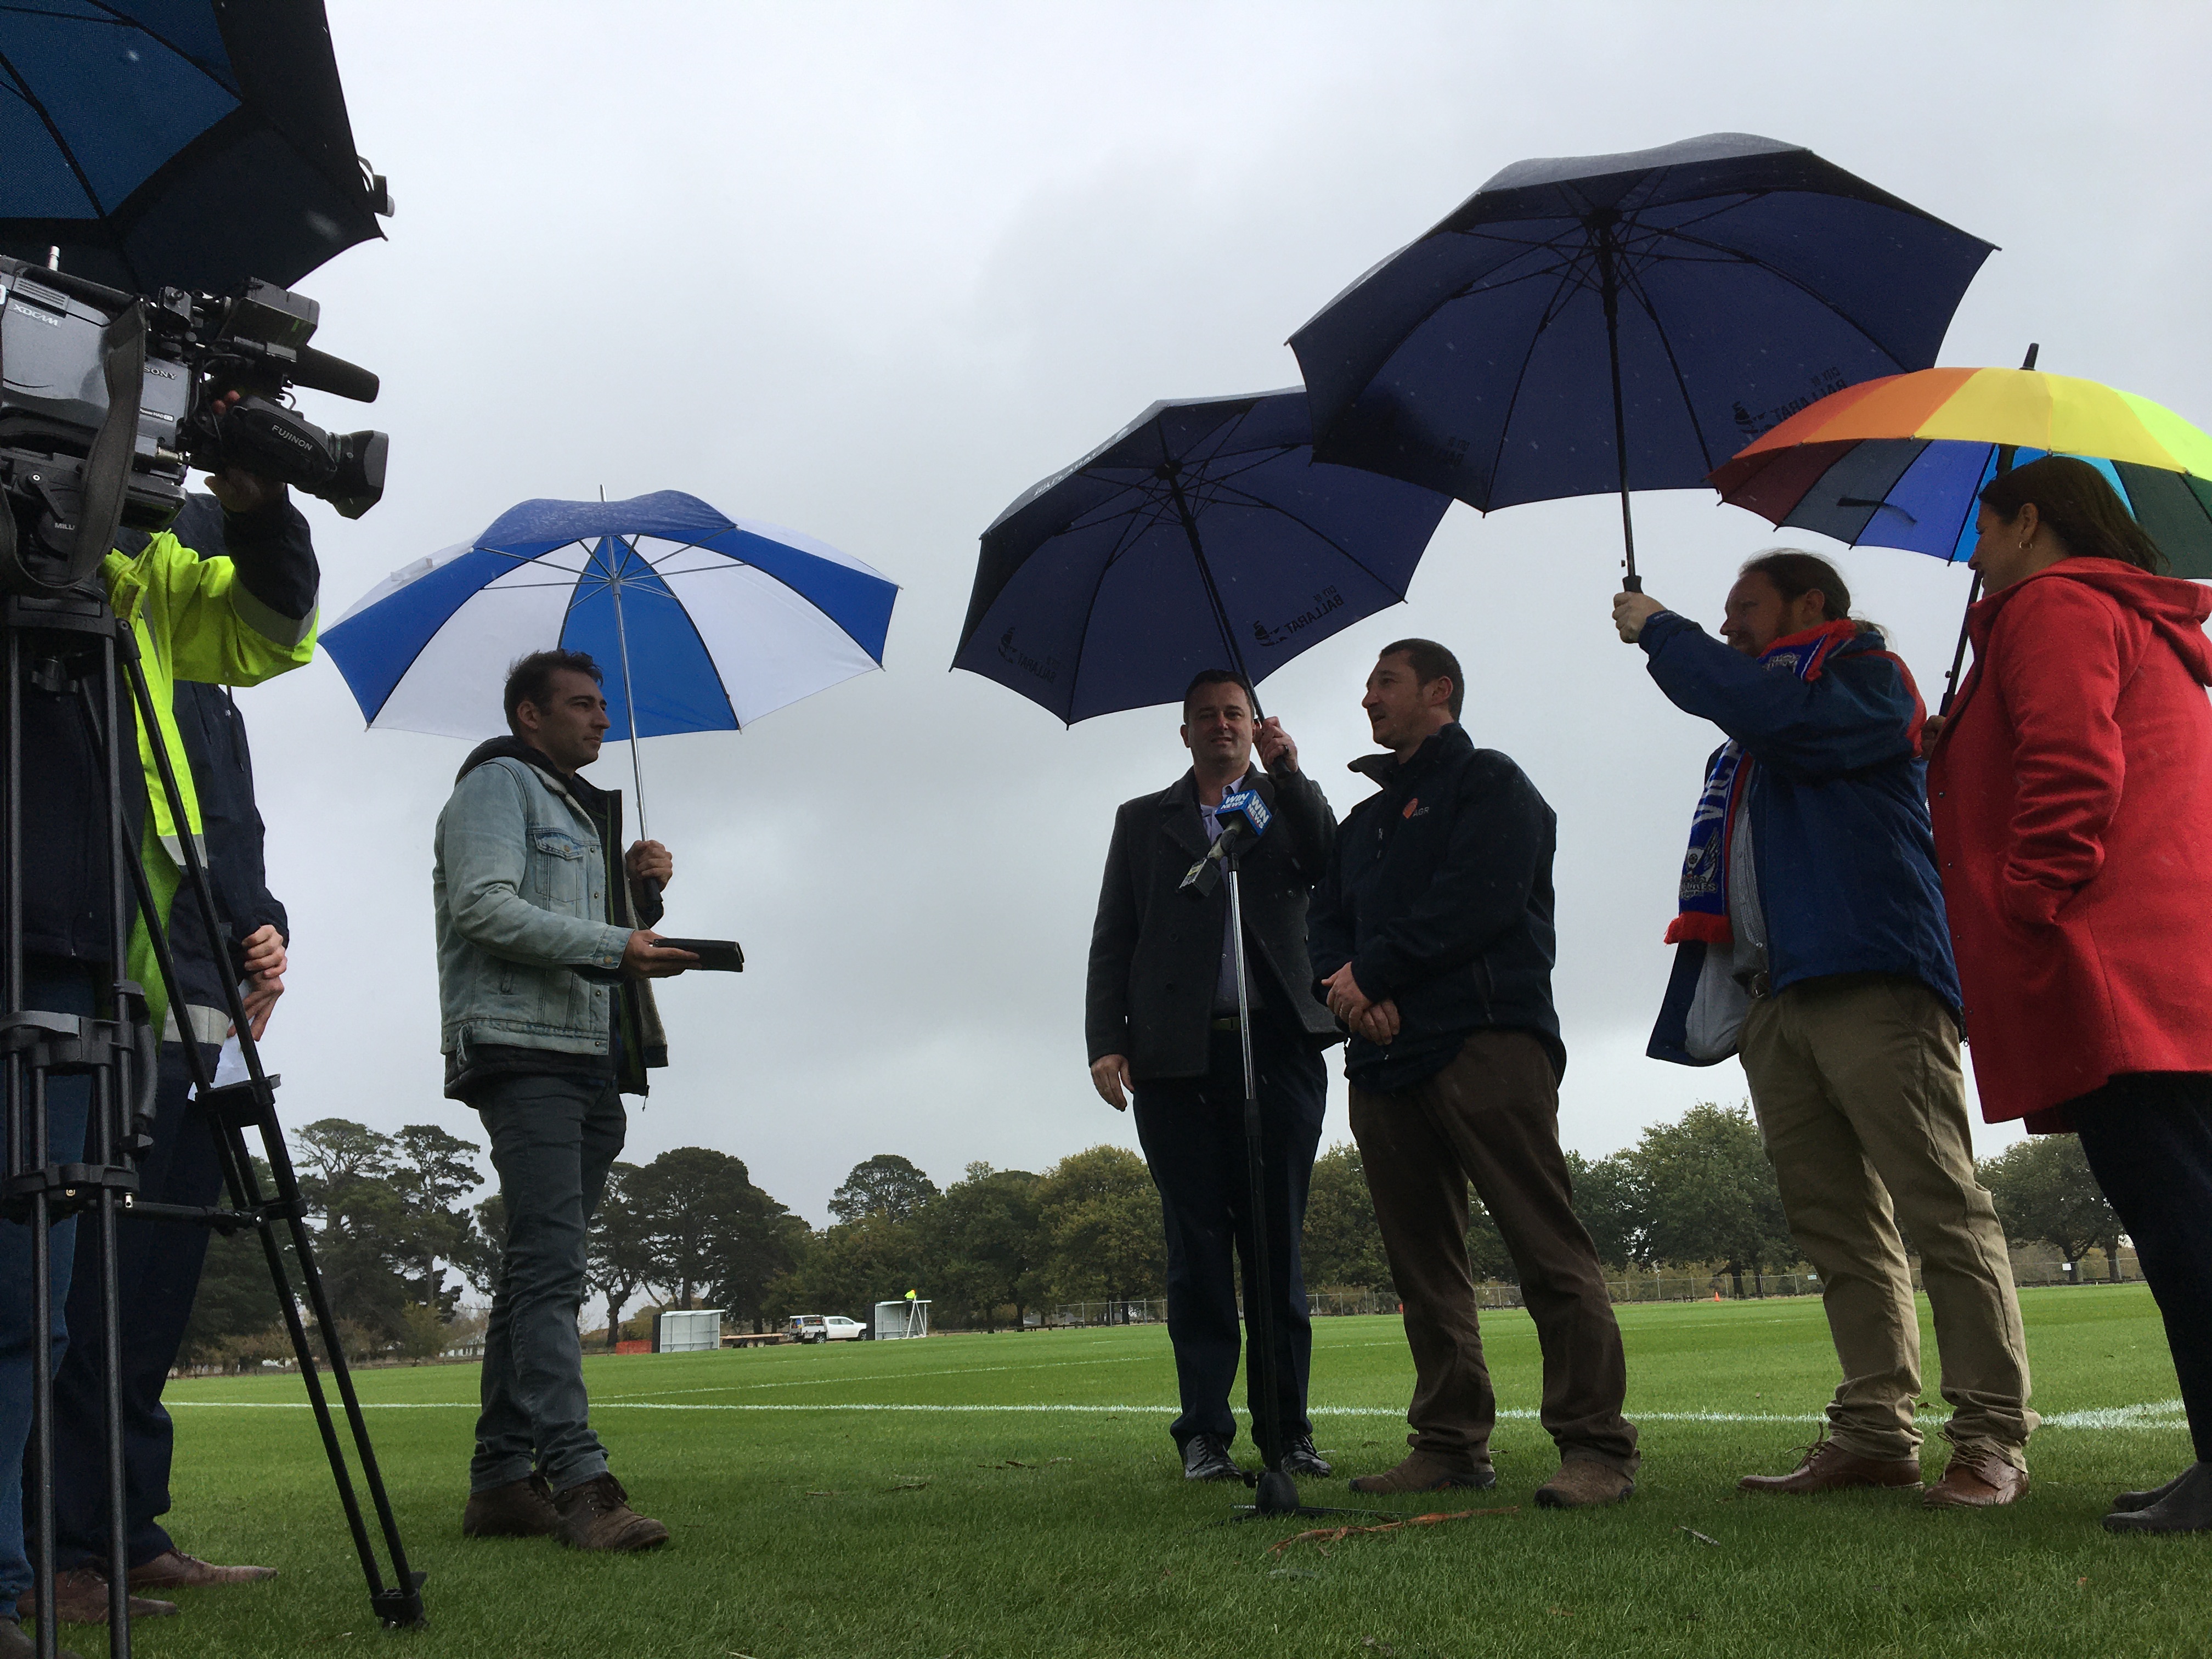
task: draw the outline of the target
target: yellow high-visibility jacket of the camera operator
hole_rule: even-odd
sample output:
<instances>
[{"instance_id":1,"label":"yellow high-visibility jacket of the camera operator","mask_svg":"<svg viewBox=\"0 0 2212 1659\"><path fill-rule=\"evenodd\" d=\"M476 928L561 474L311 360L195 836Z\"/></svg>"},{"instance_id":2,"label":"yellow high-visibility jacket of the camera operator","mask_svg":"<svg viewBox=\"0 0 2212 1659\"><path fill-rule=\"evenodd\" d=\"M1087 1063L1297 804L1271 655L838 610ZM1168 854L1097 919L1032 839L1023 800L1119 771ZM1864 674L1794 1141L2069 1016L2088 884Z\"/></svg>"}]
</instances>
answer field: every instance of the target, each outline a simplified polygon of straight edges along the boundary
<instances>
[{"instance_id":1,"label":"yellow high-visibility jacket of the camera operator","mask_svg":"<svg viewBox=\"0 0 2212 1659\"><path fill-rule=\"evenodd\" d=\"M279 615L239 582L237 566L228 557L201 557L168 531L148 538L137 555L108 553L100 575L115 615L131 624L146 688L153 695L157 728L146 730L146 723L137 721L139 765L146 772L146 832L139 858L166 925L170 898L184 878L181 836L192 836L195 847L201 847L199 796L184 739L177 734L170 688L179 679L259 686L263 679L290 672L314 657L316 617L312 611L305 617ZM161 743L175 772L184 823L177 823L161 787L155 741ZM159 1029L168 1013L168 993L155 967L144 918L131 931L131 978L146 987L148 1011Z\"/></svg>"}]
</instances>

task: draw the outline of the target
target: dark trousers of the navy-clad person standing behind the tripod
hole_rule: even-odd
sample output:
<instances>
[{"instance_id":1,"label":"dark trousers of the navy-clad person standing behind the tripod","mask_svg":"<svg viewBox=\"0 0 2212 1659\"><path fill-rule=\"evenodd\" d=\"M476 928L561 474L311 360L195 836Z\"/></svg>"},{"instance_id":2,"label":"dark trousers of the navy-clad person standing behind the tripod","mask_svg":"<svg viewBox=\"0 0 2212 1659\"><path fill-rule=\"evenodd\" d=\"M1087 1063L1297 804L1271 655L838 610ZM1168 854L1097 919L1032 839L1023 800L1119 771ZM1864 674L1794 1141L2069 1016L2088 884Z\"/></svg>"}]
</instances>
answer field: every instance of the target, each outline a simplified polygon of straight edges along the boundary
<instances>
[{"instance_id":1,"label":"dark trousers of the navy-clad person standing behind the tripod","mask_svg":"<svg viewBox=\"0 0 2212 1659\"><path fill-rule=\"evenodd\" d=\"M201 1053L212 1073L219 1051L204 1044ZM139 1197L150 1203L215 1203L223 1192L215 1135L199 1102L186 1099L190 1086L184 1051L173 1042L161 1044L153 1152L139 1164ZM208 1230L184 1221L119 1217L115 1245L124 1325L126 1548L131 1566L144 1566L175 1548L157 1524L168 1513L168 1460L175 1444L175 1425L161 1409L161 1387L192 1321L199 1270L208 1261ZM276 1318L276 1296L270 1292L270 1323ZM53 1559L58 1568L104 1568L108 1453L100 1380L100 1243L91 1225L77 1228L69 1329L75 1340L53 1378Z\"/></svg>"}]
</instances>

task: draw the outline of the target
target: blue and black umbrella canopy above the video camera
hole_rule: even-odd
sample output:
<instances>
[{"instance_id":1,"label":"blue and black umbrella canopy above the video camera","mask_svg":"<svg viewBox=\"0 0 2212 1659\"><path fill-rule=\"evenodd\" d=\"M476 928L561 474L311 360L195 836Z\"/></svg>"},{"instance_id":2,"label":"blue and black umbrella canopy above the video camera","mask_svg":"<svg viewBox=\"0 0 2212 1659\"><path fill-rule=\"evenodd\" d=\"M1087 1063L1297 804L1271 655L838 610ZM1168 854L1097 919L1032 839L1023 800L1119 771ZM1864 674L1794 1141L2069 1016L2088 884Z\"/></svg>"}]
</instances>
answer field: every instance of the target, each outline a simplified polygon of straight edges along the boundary
<instances>
[{"instance_id":1,"label":"blue and black umbrella canopy above the video camera","mask_svg":"<svg viewBox=\"0 0 2212 1659\"><path fill-rule=\"evenodd\" d=\"M0 252L139 294L290 288L392 212L319 0L9 7L0 155Z\"/></svg>"}]
</instances>

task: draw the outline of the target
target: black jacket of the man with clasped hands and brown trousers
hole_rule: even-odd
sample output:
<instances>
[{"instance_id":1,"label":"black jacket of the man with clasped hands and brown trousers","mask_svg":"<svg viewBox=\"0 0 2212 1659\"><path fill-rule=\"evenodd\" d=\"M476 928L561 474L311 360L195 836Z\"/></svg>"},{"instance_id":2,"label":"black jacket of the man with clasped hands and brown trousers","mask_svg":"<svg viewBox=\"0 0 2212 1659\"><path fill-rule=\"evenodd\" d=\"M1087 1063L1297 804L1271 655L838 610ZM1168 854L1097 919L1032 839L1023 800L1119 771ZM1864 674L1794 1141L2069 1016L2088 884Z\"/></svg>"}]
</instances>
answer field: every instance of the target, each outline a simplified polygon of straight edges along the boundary
<instances>
[{"instance_id":1,"label":"black jacket of the man with clasped hands and brown trousers","mask_svg":"<svg viewBox=\"0 0 2212 1659\"><path fill-rule=\"evenodd\" d=\"M1314 980L1345 962L1360 989L1398 1002L1387 1048L1354 1037L1345 1075L1400 1091L1451 1064L1473 1031L1526 1031L1566 1071L1551 1004L1551 858L1557 818L1498 750L1447 726L1400 765L1352 763L1383 787L1336 832L1314 902Z\"/></svg>"}]
</instances>

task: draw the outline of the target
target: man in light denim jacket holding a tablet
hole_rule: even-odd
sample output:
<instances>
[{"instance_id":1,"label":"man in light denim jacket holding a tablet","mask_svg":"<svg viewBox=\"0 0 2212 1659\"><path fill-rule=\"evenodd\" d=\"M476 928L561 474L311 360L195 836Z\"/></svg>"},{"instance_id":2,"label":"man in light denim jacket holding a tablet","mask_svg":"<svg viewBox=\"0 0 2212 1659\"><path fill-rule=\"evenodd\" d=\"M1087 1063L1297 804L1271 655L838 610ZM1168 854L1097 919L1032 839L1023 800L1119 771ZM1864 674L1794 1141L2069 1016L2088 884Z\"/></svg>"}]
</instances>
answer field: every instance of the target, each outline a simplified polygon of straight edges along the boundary
<instances>
[{"instance_id":1,"label":"man in light denim jacket holding a tablet","mask_svg":"<svg viewBox=\"0 0 2212 1659\"><path fill-rule=\"evenodd\" d=\"M434 876L445 1093L482 1115L507 1206L462 1533L653 1548L668 1528L628 1506L591 1431L575 1318L622 1095L668 1064L646 980L699 958L639 925L661 916L668 849L617 854L622 794L577 776L608 726L599 666L522 657L507 726L453 781Z\"/></svg>"}]
</instances>

